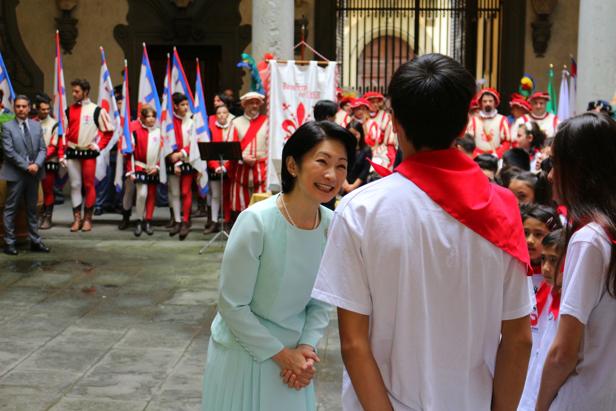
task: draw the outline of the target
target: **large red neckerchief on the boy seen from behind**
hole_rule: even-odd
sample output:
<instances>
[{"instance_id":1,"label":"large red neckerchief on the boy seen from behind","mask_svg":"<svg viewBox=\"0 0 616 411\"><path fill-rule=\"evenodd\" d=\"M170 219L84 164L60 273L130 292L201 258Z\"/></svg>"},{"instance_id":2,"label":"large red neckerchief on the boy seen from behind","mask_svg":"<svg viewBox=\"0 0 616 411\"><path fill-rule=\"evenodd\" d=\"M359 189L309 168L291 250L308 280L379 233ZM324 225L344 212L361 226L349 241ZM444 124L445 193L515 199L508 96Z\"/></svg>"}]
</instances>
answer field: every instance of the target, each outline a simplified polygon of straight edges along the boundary
<instances>
[{"instance_id":1,"label":"large red neckerchief on the boy seen from behind","mask_svg":"<svg viewBox=\"0 0 616 411\"><path fill-rule=\"evenodd\" d=\"M384 174L391 174L372 165L377 173L384 169ZM527 275L533 275L516 197L490 184L476 162L450 148L413 154L394 171L413 181L453 218L526 264Z\"/></svg>"}]
</instances>

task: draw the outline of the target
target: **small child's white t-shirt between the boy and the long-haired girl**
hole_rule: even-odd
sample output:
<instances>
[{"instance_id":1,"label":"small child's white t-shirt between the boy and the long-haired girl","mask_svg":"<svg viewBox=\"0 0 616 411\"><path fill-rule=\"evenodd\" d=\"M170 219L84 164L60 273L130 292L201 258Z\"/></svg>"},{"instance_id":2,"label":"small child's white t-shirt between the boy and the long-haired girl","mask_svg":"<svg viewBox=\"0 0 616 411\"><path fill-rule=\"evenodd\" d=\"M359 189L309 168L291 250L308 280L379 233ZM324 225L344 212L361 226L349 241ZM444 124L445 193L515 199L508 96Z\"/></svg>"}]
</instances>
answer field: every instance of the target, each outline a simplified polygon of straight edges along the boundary
<instances>
[{"instance_id":1,"label":"small child's white t-shirt between the boy and the long-haired girl","mask_svg":"<svg viewBox=\"0 0 616 411\"><path fill-rule=\"evenodd\" d=\"M550 294L549 304L551 303L552 299ZM537 350L533 349L532 354L530 354L529 372L526 375L524 392L522 392L522 399L520 400L520 405L517 407L517 411L535 411L537 395L539 394L539 388L541 386L543 364L548 356L549 349L552 347L554 338L556 338L556 331L558 331L558 323L561 318L554 318L554 313L549 311L549 304L546 302L546 305L543 308L543 310L547 313L545 331L543 333L543 337L541 338L540 344L538 344ZM533 340L533 346L534 345Z\"/></svg>"}]
</instances>

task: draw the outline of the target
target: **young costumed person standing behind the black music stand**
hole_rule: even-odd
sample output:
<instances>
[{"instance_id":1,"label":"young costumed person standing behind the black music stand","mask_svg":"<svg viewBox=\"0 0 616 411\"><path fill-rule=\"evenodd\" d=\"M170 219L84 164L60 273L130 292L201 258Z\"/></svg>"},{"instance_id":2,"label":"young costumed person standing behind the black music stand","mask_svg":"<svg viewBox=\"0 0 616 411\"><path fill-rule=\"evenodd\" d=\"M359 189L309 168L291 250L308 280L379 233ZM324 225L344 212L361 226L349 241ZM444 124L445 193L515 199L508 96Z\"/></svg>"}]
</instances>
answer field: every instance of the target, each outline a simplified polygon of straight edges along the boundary
<instances>
[{"instance_id":1,"label":"young costumed person standing behind the black music stand","mask_svg":"<svg viewBox=\"0 0 616 411\"><path fill-rule=\"evenodd\" d=\"M230 117L232 117L232 114L229 113L229 107L225 104L216 106L216 114L209 117L209 131L211 132L213 143L233 141L234 137L237 138L237 133L229 133L232 120ZM224 212L223 228L227 233L231 231L231 181L229 180L229 175L232 174L233 164L234 162L229 161L224 161L223 164L215 160L208 161L208 180L212 196L212 224L206 226L205 230L203 230L203 234L221 231L221 224L218 221L218 212L221 207L221 195L222 209Z\"/></svg>"}]
</instances>

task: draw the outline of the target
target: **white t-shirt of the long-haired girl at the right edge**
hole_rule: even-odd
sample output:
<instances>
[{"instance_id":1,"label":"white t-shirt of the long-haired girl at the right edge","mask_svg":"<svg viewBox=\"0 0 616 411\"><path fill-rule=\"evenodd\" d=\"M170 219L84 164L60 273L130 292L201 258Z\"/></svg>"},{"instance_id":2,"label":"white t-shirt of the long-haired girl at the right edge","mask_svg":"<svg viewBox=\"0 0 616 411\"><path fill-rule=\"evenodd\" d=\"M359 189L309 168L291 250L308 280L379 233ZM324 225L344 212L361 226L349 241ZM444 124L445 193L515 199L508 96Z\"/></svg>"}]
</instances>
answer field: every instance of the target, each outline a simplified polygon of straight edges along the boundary
<instances>
[{"instance_id":1,"label":"white t-shirt of the long-haired girl at the right edge","mask_svg":"<svg viewBox=\"0 0 616 411\"><path fill-rule=\"evenodd\" d=\"M562 281L562 314L585 324L575 370L551 411L616 410L616 299L606 288L612 242L596 223L573 234Z\"/></svg>"}]
</instances>

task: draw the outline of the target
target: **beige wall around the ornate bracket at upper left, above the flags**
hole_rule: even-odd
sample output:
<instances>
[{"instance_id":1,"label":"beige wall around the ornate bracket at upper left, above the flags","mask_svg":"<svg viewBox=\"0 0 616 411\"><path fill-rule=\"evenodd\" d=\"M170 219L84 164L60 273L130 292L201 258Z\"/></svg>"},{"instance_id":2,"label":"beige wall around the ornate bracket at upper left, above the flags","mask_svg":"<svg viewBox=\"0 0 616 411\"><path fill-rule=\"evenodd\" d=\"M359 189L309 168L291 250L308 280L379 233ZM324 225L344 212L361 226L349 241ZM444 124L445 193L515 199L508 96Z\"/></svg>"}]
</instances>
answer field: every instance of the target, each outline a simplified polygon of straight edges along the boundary
<instances>
[{"instance_id":1,"label":"beige wall around the ornate bracket at upper left, above the flags","mask_svg":"<svg viewBox=\"0 0 616 411\"><path fill-rule=\"evenodd\" d=\"M121 84L124 52L113 38L113 27L126 24L126 0L81 0L72 12L78 19L79 35L72 54L62 54L64 80L67 85L67 103L72 104L69 83L73 78L84 77L92 86L91 99L99 94L100 51L105 49L107 67L114 85ZM54 94L55 30L54 18L62 11L52 0L21 1L17 6L17 22L23 43L45 75L45 92ZM131 87L132 89L132 87Z\"/></svg>"}]
</instances>

